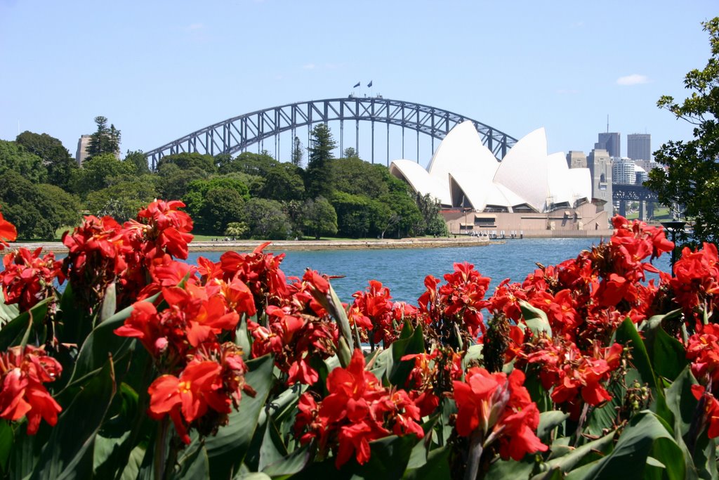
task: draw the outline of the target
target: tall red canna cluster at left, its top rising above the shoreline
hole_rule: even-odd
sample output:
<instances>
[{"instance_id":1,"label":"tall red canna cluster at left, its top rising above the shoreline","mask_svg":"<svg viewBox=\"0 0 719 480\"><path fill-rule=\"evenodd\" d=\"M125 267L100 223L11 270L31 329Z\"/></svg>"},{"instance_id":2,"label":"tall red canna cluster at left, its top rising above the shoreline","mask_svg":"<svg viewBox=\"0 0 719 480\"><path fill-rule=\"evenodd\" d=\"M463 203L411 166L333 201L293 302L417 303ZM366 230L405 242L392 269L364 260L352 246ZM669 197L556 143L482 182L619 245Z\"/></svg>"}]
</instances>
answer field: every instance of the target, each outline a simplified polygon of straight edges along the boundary
<instances>
[{"instance_id":1,"label":"tall red canna cluster at left, its top rising above the shoreline","mask_svg":"<svg viewBox=\"0 0 719 480\"><path fill-rule=\"evenodd\" d=\"M102 299L106 287L117 281L120 305L132 302L147 285L145 271L162 263L165 255L187 258L192 240L192 220L178 210L181 201L153 201L136 220L119 225L111 217L85 217L80 227L63 234L70 252L63 270L70 284L91 287L93 304Z\"/></svg>"}]
</instances>

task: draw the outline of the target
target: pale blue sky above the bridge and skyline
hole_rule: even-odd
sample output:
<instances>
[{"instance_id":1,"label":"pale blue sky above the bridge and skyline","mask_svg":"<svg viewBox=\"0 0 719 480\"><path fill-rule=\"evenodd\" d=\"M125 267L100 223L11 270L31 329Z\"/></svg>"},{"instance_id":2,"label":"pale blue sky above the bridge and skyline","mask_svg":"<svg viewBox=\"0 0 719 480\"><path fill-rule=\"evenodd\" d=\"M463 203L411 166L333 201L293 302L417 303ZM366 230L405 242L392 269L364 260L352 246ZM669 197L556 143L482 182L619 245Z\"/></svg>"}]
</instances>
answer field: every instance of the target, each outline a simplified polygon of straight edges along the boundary
<instances>
[{"instance_id":1,"label":"pale blue sky above the bridge and skyline","mask_svg":"<svg viewBox=\"0 0 719 480\"><path fill-rule=\"evenodd\" d=\"M372 80L372 94L514 137L544 126L550 152L588 153L607 114L623 154L634 132L651 133L656 150L691 136L656 100L686 96L684 74L710 54L700 22L717 6L0 0L0 139L14 140L19 122L74 155L104 115L123 151L151 150L257 109L347 96L357 81L370 93Z\"/></svg>"}]
</instances>

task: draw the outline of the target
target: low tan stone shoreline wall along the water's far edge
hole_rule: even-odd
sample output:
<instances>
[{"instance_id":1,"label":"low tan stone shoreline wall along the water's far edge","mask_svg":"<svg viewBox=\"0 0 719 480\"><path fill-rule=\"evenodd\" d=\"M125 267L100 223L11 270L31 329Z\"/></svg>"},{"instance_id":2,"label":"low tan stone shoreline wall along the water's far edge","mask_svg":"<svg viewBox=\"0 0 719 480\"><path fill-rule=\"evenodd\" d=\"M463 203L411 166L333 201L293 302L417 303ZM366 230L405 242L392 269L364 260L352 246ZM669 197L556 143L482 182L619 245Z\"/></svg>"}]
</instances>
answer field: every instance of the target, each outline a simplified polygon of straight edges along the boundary
<instances>
[{"instance_id":1,"label":"low tan stone shoreline wall along the water's far edge","mask_svg":"<svg viewBox=\"0 0 719 480\"><path fill-rule=\"evenodd\" d=\"M566 231L544 230L540 235L537 232L525 232L524 238L577 238L577 237L610 237L612 230L598 231L575 231L574 235L567 235ZM578 234L578 235L577 235ZM588 235L591 234L591 235ZM365 240L273 240L267 246L268 251L272 250L388 250L408 248L450 248L450 247L477 247L493 243L505 243L508 241L521 241L521 238L488 238L488 237L452 237L452 238L403 238L400 240L365 239ZM257 246L265 243L265 240L198 240L188 245L190 252L224 252L235 250L239 252L251 252ZM63 243L58 242L15 242L10 243L6 250L13 250L20 247L28 250L42 248L43 253L66 253L67 248Z\"/></svg>"}]
</instances>

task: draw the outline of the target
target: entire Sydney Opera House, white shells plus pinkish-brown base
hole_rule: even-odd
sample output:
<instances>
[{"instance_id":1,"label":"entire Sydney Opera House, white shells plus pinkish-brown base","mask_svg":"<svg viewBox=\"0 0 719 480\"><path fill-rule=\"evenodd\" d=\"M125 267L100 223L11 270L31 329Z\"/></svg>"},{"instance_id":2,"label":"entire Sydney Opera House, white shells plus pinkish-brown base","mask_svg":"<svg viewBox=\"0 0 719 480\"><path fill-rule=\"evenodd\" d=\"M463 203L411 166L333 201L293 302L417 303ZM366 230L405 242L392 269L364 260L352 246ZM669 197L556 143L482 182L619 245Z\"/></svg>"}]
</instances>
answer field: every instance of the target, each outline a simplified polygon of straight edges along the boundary
<instances>
[{"instance_id":1,"label":"entire Sydney Opera House, white shells plus pinkish-brown base","mask_svg":"<svg viewBox=\"0 0 719 480\"><path fill-rule=\"evenodd\" d=\"M463 122L442 140L428 168L394 160L390 171L438 199L453 233L551 236L608 227L604 202L592 201L589 169L569 168L564 153L548 154L544 128L499 161L474 124Z\"/></svg>"}]
</instances>

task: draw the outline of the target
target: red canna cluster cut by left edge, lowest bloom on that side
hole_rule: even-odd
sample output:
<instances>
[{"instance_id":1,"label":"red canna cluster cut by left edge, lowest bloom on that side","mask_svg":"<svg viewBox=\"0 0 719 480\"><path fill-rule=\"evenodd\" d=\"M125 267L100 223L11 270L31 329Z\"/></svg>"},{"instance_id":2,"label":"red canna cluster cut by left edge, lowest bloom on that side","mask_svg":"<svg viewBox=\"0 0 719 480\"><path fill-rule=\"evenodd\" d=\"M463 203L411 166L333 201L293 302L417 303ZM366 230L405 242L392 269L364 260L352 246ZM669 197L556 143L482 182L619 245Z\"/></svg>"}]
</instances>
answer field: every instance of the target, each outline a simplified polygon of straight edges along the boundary
<instances>
[{"instance_id":1,"label":"red canna cluster cut by left edge, lowest bloom on that side","mask_svg":"<svg viewBox=\"0 0 719 480\"><path fill-rule=\"evenodd\" d=\"M28 435L37 433L40 419L55 425L62 408L42 384L55 381L62 371L60 363L42 348L17 346L0 353L0 418L27 417Z\"/></svg>"}]
</instances>

